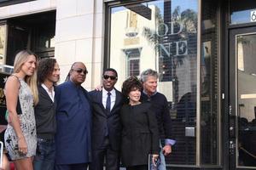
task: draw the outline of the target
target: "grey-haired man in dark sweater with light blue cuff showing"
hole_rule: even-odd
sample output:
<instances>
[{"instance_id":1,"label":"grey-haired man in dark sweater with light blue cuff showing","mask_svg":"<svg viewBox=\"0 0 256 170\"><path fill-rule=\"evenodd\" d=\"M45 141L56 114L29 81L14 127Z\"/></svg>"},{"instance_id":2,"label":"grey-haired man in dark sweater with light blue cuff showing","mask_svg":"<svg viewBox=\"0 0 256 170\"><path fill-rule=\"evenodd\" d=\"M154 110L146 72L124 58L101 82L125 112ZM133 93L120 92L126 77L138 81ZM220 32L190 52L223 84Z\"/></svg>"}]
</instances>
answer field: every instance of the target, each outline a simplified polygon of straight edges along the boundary
<instances>
[{"instance_id":1,"label":"grey-haired man in dark sweater with light blue cuff showing","mask_svg":"<svg viewBox=\"0 0 256 170\"><path fill-rule=\"evenodd\" d=\"M164 94L160 94L156 91L158 73L151 69L143 71L140 75L141 82L143 82L143 93L141 99L144 102L150 102L152 105L152 111L154 111L161 141L164 142L164 146L160 151L160 166L159 170L166 169L165 156L171 154L172 145L175 144L175 140L172 139L172 121L169 114L168 102ZM160 144L160 147L162 144ZM163 156L165 155L165 156Z\"/></svg>"}]
</instances>

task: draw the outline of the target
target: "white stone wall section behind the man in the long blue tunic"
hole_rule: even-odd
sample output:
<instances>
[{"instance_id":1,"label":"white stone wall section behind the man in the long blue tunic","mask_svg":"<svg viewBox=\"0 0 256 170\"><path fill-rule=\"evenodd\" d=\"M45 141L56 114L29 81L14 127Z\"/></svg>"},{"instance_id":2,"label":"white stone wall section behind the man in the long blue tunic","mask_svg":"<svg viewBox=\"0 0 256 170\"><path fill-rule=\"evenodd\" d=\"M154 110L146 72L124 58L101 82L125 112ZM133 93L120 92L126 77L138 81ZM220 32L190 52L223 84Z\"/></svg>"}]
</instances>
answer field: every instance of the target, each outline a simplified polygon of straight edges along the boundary
<instances>
[{"instance_id":1,"label":"white stone wall section behind the man in the long blue tunic","mask_svg":"<svg viewBox=\"0 0 256 170\"><path fill-rule=\"evenodd\" d=\"M103 65L103 0L57 0L55 57L61 66L61 82L75 61L89 74L87 89L101 83Z\"/></svg>"}]
</instances>

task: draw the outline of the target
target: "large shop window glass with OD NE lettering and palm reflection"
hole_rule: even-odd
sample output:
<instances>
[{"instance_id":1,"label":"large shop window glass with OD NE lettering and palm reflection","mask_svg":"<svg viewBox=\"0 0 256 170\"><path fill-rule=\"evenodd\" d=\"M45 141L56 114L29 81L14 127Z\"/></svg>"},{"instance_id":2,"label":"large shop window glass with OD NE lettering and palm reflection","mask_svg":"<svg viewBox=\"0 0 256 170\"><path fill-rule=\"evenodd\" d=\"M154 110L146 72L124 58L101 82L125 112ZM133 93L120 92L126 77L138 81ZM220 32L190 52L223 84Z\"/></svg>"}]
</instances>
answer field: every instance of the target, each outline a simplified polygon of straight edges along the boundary
<instances>
[{"instance_id":1,"label":"large shop window glass with OD NE lettering and palm reflection","mask_svg":"<svg viewBox=\"0 0 256 170\"><path fill-rule=\"evenodd\" d=\"M158 0L111 8L110 67L126 77L159 71L177 144L167 164L195 164L197 0Z\"/></svg>"}]
</instances>

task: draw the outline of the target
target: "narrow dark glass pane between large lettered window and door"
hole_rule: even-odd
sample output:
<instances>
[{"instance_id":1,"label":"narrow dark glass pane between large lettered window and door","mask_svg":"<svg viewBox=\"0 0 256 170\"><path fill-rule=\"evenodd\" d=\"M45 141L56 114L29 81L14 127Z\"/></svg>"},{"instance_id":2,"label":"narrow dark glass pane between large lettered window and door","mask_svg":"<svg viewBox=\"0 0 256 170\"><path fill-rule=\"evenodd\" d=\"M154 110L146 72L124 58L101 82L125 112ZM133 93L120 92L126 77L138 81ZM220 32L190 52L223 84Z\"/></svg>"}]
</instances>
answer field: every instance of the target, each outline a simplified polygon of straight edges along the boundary
<instances>
[{"instance_id":1,"label":"narrow dark glass pane between large lettered window and door","mask_svg":"<svg viewBox=\"0 0 256 170\"><path fill-rule=\"evenodd\" d=\"M218 165L218 3L202 1L201 25L201 163ZM207 138L205 138L207 136Z\"/></svg>"}]
</instances>

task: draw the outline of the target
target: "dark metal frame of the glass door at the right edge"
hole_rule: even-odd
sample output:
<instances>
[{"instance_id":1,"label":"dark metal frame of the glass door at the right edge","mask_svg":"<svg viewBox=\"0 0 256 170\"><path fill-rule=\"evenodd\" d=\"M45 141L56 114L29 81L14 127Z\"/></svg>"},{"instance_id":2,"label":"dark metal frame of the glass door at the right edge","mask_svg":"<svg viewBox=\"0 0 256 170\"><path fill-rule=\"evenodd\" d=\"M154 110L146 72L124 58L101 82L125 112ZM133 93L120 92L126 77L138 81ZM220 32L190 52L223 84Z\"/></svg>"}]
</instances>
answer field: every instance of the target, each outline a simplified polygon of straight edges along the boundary
<instances>
[{"instance_id":1,"label":"dark metal frame of the glass door at the right edge","mask_svg":"<svg viewBox=\"0 0 256 170\"><path fill-rule=\"evenodd\" d=\"M256 34L256 26L230 29L229 31L229 169L246 170L256 167L238 166L238 121L237 121L237 55L236 38Z\"/></svg>"}]
</instances>

